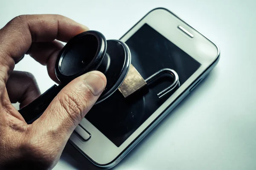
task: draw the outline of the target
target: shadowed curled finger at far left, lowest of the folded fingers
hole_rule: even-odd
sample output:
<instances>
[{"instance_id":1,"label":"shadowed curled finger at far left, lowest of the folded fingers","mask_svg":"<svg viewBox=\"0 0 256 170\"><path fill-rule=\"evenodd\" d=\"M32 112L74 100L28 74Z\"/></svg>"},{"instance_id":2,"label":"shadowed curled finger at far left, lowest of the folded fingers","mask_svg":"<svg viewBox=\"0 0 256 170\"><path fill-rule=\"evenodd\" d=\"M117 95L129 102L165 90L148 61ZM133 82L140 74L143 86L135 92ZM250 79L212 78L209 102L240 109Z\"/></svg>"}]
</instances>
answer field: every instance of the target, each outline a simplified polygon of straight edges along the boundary
<instances>
[{"instance_id":1,"label":"shadowed curled finger at far left, lowest of the folded fingers","mask_svg":"<svg viewBox=\"0 0 256 170\"><path fill-rule=\"evenodd\" d=\"M40 90L35 77L28 72L13 71L7 83L6 90L12 103L19 102L20 108L31 103L40 96Z\"/></svg>"}]
</instances>

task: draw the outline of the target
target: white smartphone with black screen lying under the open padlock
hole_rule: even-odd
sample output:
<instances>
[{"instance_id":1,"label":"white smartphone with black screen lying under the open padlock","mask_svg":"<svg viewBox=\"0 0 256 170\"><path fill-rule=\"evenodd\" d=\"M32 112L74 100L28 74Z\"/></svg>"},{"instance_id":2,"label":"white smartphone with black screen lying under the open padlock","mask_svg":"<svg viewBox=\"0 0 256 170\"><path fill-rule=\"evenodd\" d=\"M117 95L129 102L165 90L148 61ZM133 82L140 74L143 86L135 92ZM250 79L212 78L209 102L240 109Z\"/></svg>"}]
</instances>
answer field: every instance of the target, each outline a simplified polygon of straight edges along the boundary
<instances>
[{"instance_id":1,"label":"white smartphone with black screen lying under the open padlock","mask_svg":"<svg viewBox=\"0 0 256 170\"><path fill-rule=\"evenodd\" d=\"M94 105L70 137L70 142L97 167L109 169L121 161L215 67L220 50L215 43L171 11L155 8L120 40L131 51L131 64L145 79L162 68L179 76L180 86L159 99L170 85L162 77L148 91L125 99L116 91Z\"/></svg>"}]
</instances>

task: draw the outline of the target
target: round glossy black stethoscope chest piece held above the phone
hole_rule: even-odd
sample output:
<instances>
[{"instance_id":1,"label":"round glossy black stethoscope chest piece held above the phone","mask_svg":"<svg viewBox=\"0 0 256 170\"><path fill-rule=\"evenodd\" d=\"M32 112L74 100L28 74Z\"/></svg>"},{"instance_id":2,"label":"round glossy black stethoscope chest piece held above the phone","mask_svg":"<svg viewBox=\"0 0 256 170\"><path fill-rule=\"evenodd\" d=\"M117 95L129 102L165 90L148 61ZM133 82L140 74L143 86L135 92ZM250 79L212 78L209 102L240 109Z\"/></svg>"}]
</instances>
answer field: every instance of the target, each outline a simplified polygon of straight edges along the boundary
<instances>
[{"instance_id":1,"label":"round glossy black stethoscope chest piece held above the phone","mask_svg":"<svg viewBox=\"0 0 256 170\"><path fill-rule=\"evenodd\" d=\"M96 104L113 94L124 81L131 65L127 45L107 40L98 31L86 31L73 37L60 51L55 65L56 76L67 84L90 71L101 71L107 85Z\"/></svg>"}]
</instances>

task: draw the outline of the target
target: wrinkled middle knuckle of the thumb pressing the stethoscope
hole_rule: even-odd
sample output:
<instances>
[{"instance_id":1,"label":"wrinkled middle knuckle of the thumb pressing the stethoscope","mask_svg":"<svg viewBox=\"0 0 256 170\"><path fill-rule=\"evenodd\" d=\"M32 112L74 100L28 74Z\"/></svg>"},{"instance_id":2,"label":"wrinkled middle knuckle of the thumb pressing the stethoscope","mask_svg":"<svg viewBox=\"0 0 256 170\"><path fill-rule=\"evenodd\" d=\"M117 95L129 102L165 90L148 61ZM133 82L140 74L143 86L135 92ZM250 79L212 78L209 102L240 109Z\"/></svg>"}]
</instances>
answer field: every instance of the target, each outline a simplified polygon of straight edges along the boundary
<instances>
[{"instance_id":1,"label":"wrinkled middle knuckle of the thumb pressing the stethoscope","mask_svg":"<svg viewBox=\"0 0 256 170\"><path fill-rule=\"evenodd\" d=\"M64 92L58 98L61 108L68 114L73 122L81 120L84 116L84 110L87 110L87 103L81 102L79 95L75 92Z\"/></svg>"}]
</instances>

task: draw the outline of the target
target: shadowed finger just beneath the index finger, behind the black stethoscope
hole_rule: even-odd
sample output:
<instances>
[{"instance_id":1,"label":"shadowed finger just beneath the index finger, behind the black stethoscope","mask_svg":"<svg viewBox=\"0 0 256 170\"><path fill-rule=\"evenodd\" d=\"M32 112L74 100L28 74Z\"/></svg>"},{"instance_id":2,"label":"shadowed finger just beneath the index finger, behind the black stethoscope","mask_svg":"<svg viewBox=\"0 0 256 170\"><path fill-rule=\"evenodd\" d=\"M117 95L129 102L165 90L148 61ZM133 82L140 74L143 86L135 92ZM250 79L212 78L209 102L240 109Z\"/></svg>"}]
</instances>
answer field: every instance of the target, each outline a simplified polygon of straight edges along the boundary
<instances>
[{"instance_id":1,"label":"shadowed finger just beneath the index finger, behind the black stethoscope","mask_svg":"<svg viewBox=\"0 0 256 170\"><path fill-rule=\"evenodd\" d=\"M63 44L57 40L52 42L34 42L27 54L42 65L47 65L49 77L56 83L60 83L55 74L55 62Z\"/></svg>"}]
</instances>

